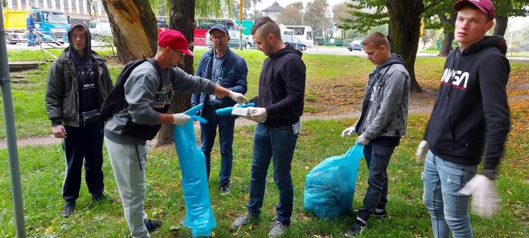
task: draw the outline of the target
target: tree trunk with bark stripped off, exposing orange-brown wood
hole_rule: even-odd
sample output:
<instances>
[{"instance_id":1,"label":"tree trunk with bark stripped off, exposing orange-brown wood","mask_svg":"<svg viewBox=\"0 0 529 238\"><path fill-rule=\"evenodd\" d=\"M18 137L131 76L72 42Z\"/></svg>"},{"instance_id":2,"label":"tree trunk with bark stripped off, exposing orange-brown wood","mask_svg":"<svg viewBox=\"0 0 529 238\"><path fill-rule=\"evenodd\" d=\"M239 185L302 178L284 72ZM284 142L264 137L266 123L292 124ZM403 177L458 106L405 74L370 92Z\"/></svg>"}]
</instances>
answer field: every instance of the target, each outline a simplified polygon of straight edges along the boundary
<instances>
[{"instance_id":1,"label":"tree trunk with bark stripped off, exposing orange-brown wood","mask_svg":"<svg viewBox=\"0 0 529 238\"><path fill-rule=\"evenodd\" d=\"M122 63L156 52L156 17L147 0L103 0Z\"/></svg>"}]
</instances>

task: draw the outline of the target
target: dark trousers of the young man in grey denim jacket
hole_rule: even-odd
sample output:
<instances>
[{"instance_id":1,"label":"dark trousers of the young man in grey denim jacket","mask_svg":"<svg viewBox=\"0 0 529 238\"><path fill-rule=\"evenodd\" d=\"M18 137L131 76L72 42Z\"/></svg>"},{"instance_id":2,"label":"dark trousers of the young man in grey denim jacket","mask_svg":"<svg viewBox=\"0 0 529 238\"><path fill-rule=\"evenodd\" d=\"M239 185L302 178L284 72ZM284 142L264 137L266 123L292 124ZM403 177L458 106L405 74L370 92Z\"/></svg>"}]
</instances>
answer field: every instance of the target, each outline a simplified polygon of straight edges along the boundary
<instances>
[{"instance_id":1,"label":"dark trousers of the young man in grey denim jacket","mask_svg":"<svg viewBox=\"0 0 529 238\"><path fill-rule=\"evenodd\" d=\"M364 157L369 168L369 180L364 204L357 214L357 217L364 221L367 221L369 216L375 213L375 209L386 210L386 203L388 202L387 169L393 151L395 151L394 146L373 143L364 147Z\"/></svg>"}]
</instances>

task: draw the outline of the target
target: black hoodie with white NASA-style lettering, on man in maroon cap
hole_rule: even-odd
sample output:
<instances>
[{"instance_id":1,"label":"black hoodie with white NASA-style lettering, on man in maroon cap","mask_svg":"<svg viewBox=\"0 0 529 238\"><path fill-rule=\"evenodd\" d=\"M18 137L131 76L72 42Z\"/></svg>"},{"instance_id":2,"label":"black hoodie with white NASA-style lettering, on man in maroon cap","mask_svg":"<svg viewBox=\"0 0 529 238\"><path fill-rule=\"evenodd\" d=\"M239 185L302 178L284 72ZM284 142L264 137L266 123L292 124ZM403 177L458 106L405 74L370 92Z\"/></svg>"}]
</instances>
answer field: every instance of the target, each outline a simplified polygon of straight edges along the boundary
<instances>
[{"instance_id":1,"label":"black hoodie with white NASA-style lettering, on man in maroon cap","mask_svg":"<svg viewBox=\"0 0 529 238\"><path fill-rule=\"evenodd\" d=\"M425 138L449 162L495 170L509 131L506 85L510 65L501 36L486 36L446 57Z\"/></svg>"}]
</instances>

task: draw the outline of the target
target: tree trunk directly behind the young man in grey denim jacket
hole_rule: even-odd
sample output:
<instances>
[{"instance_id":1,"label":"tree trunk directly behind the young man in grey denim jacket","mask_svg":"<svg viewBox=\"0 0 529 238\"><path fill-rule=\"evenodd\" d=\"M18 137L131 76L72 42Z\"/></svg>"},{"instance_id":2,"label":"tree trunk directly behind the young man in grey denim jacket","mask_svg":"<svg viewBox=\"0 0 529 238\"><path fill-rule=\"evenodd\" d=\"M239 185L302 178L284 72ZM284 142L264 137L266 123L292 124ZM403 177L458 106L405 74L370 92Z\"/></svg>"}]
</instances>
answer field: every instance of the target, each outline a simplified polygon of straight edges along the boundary
<instances>
[{"instance_id":1,"label":"tree trunk directly behind the young man in grey denim jacket","mask_svg":"<svg viewBox=\"0 0 529 238\"><path fill-rule=\"evenodd\" d=\"M422 0L387 0L389 12L388 40L391 52L400 54L406 61L406 69L411 76L410 90L421 91L415 79L415 58L419 47L421 14L424 12Z\"/></svg>"}]
</instances>

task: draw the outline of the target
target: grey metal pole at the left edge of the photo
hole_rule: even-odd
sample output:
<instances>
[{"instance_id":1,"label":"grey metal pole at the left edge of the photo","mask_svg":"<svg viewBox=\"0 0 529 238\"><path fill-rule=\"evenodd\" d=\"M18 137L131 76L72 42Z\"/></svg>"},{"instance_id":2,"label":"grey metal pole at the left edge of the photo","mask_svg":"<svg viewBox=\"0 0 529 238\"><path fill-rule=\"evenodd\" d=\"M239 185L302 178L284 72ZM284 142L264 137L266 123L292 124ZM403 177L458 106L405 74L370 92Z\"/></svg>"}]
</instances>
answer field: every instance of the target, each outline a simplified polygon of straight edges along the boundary
<instances>
[{"instance_id":1,"label":"grey metal pole at the left edge of the photo","mask_svg":"<svg viewBox=\"0 0 529 238\"><path fill-rule=\"evenodd\" d=\"M0 12L3 8L0 4ZM11 96L11 78L9 76L8 50L6 48L6 30L3 29L3 17L0 17L0 88L2 92L3 117L6 122L6 139L8 142L9 171L13 193L14 224L17 237L25 237L24 206L22 186L20 183L19 154L17 152L17 135L14 132L13 100Z\"/></svg>"}]
</instances>

